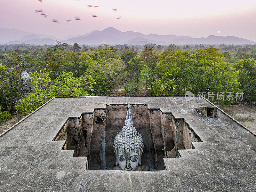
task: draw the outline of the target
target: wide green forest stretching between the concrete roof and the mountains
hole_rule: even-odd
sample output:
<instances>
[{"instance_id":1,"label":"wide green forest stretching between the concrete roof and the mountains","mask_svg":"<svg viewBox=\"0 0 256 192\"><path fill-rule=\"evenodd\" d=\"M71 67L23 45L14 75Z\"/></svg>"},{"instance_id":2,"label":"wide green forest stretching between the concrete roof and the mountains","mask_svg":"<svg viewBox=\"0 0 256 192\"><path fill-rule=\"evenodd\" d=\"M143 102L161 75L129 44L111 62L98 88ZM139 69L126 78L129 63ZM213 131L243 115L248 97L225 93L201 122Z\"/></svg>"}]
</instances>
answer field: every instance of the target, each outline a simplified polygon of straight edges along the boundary
<instances>
[{"instance_id":1,"label":"wide green forest stretching between the concrete roof and the mountains","mask_svg":"<svg viewBox=\"0 0 256 192\"><path fill-rule=\"evenodd\" d=\"M0 123L52 97L185 95L256 100L256 45L0 45ZM24 67L39 67L28 79ZM219 93L229 94L220 100ZM232 93L232 97L230 97Z\"/></svg>"}]
</instances>

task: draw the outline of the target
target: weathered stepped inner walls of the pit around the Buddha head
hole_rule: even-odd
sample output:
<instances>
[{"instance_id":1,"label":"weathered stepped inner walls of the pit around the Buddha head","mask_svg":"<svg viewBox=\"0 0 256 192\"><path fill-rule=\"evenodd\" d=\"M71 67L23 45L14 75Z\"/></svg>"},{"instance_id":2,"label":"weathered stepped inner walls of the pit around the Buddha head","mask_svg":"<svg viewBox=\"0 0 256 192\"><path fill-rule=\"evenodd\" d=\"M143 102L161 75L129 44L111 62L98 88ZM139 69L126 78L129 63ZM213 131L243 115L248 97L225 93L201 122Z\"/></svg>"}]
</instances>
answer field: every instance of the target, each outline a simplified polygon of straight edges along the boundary
<instances>
[{"instance_id":1,"label":"weathered stepped inner walls of the pit around the Buddha head","mask_svg":"<svg viewBox=\"0 0 256 192\"><path fill-rule=\"evenodd\" d=\"M133 125L143 138L141 162L164 170L164 157L179 157L179 149L192 149L201 141L183 118L172 113L131 105ZM88 169L101 169L116 163L113 141L125 124L127 105L111 104L94 113L69 117L54 140L66 140L63 150L74 150L74 157L88 157Z\"/></svg>"}]
</instances>

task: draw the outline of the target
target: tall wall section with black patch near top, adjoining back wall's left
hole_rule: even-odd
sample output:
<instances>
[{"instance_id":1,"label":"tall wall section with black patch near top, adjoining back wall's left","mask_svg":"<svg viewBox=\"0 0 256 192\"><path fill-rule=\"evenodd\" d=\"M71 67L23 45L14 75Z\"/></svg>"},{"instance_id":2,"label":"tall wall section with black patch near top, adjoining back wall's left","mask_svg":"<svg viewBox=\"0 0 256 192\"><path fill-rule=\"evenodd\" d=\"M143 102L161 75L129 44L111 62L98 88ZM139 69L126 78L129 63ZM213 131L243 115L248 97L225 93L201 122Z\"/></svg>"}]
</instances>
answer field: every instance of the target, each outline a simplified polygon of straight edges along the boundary
<instances>
[{"instance_id":1,"label":"tall wall section with black patch near top, adjoining back wall's left","mask_svg":"<svg viewBox=\"0 0 256 192\"><path fill-rule=\"evenodd\" d=\"M89 169L101 169L100 148L105 131L106 109L95 109L92 118L92 132L89 145Z\"/></svg>"}]
</instances>

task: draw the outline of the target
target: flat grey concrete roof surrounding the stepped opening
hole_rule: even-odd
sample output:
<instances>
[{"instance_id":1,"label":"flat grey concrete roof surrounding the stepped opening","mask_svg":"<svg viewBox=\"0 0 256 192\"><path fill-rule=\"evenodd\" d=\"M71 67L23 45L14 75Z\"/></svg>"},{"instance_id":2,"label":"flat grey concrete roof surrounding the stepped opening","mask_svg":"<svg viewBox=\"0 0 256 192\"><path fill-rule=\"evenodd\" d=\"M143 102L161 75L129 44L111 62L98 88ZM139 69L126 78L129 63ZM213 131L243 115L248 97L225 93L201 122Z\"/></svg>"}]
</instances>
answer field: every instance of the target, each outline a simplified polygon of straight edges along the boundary
<instances>
[{"instance_id":1,"label":"flat grey concrete roof surrounding the stepped opening","mask_svg":"<svg viewBox=\"0 0 256 192\"><path fill-rule=\"evenodd\" d=\"M204 118L195 107L211 105L207 100L130 100L184 117L203 142L179 150L181 158L165 158L164 171L85 170L86 157L52 139L68 117L127 104L128 97L54 98L0 137L0 191L256 191L256 137L220 109L217 118Z\"/></svg>"}]
</instances>

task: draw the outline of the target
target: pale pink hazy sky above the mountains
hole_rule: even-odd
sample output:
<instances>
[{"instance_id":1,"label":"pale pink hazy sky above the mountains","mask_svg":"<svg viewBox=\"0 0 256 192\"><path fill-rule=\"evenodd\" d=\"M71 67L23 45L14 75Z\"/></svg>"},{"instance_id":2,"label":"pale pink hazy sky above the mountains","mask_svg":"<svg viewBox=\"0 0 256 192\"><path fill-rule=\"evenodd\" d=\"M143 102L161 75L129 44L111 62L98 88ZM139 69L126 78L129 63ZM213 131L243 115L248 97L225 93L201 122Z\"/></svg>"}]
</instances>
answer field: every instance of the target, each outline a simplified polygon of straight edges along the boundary
<instances>
[{"instance_id":1,"label":"pale pink hazy sky above the mountains","mask_svg":"<svg viewBox=\"0 0 256 192\"><path fill-rule=\"evenodd\" d=\"M100 7L87 7L88 4ZM49 16L45 19L35 13L36 9L43 9ZM82 20L66 22L74 20L75 16ZM52 19L60 23L53 23ZM231 35L256 41L256 1L44 0L40 3L37 0L0 0L0 27L59 38L114 27L144 34Z\"/></svg>"}]
</instances>

